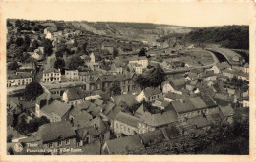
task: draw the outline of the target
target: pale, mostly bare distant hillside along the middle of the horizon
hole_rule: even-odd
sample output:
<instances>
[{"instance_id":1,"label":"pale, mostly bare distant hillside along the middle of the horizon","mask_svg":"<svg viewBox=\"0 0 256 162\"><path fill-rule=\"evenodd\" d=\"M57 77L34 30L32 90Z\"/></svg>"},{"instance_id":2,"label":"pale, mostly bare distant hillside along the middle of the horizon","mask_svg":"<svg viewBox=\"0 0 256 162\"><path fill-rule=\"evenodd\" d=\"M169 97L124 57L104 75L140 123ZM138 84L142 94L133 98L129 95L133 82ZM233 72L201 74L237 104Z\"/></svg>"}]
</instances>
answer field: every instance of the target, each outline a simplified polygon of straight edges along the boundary
<instances>
[{"instance_id":1,"label":"pale, mostly bare distant hillside along the middle of the horizon","mask_svg":"<svg viewBox=\"0 0 256 162\"><path fill-rule=\"evenodd\" d=\"M155 41L169 33L188 33L192 27L158 25L150 23L121 23L121 22L72 22L75 27L100 35L111 35L133 40Z\"/></svg>"}]
</instances>

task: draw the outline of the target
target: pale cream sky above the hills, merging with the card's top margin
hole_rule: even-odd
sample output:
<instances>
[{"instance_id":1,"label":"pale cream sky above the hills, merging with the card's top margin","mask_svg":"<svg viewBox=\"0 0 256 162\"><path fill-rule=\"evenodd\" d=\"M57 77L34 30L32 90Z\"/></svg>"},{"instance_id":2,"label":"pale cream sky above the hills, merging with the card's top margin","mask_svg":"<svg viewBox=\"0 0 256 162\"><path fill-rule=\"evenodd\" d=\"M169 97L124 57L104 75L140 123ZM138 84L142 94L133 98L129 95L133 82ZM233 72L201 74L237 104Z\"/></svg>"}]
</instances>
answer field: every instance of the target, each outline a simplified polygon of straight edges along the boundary
<instances>
[{"instance_id":1,"label":"pale cream sky above the hills, merging with the card's top margin","mask_svg":"<svg viewBox=\"0 0 256 162\"><path fill-rule=\"evenodd\" d=\"M252 1L4 2L3 18L93 22L141 22L187 27L248 25Z\"/></svg>"}]
</instances>

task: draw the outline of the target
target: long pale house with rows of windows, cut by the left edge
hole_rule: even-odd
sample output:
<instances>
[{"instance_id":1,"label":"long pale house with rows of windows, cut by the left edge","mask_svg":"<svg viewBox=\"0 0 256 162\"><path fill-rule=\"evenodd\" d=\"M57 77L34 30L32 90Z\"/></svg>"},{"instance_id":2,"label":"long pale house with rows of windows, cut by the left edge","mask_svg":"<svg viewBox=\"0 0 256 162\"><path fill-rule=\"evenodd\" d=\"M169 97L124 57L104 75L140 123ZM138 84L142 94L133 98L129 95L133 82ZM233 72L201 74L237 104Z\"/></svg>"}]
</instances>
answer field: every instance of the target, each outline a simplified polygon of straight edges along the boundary
<instances>
[{"instance_id":1,"label":"long pale house with rows of windows, cut by the left edge","mask_svg":"<svg viewBox=\"0 0 256 162\"><path fill-rule=\"evenodd\" d=\"M7 73L7 87L25 86L33 81L31 72L17 73L8 71Z\"/></svg>"}]
</instances>

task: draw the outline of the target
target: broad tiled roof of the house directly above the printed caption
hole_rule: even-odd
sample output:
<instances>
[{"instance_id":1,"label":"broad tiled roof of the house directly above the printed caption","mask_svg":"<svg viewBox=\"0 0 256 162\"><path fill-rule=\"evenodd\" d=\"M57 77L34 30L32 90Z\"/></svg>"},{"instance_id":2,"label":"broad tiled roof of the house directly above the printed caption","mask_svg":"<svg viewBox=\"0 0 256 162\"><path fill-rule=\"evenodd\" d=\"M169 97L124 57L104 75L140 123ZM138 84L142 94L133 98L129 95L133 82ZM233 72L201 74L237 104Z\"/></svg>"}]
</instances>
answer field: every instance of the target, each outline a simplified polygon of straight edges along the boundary
<instances>
[{"instance_id":1,"label":"broad tiled roof of the house directly above the printed caption","mask_svg":"<svg viewBox=\"0 0 256 162\"><path fill-rule=\"evenodd\" d=\"M76 133L68 121L44 124L39 128L43 143L55 141L58 138L75 137Z\"/></svg>"}]
</instances>

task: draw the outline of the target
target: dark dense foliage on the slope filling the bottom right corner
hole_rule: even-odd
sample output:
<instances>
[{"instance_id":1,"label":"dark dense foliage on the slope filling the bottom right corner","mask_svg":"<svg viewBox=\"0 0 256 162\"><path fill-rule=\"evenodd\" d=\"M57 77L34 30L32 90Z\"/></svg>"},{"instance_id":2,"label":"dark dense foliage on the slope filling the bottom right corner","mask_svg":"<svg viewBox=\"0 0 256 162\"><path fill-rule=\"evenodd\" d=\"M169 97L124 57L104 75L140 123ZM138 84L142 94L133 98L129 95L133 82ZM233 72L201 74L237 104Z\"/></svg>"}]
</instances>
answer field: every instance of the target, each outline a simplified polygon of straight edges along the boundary
<instances>
[{"instance_id":1,"label":"dark dense foliage on the slope filling the bottom right corner","mask_svg":"<svg viewBox=\"0 0 256 162\"><path fill-rule=\"evenodd\" d=\"M249 153L249 112L235 109L233 124L219 123L210 130L196 130L188 135L156 138L145 150L127 151L127 154L242 154Z\"/></svg>"}]
</instances>

